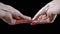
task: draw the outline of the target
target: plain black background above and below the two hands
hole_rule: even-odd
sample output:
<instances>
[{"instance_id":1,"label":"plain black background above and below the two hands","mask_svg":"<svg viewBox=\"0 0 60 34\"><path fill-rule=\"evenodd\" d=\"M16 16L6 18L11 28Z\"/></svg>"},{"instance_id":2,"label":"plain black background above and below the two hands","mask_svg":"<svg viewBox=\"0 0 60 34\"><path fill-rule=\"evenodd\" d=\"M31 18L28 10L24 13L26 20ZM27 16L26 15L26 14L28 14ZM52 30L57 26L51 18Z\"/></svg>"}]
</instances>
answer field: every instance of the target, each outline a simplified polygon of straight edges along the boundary
<instances>
[{"instance_id":1,"label":"plain black background above and below the two hands","mask_svg":"<svg viewBox=\"0 0 60 34\"><path fill-rule=\"evenodd\" d=\"M50 1L51 0L0 0L0 2L11 5L24 15L30 16L32 18L44 5ZM31 26L30 24L18 24L11 26L0 19L1 32L53 32L56 30L58 31L59 25L59 15L53 24L34 26Z\"/></svg>"}]
</instances>

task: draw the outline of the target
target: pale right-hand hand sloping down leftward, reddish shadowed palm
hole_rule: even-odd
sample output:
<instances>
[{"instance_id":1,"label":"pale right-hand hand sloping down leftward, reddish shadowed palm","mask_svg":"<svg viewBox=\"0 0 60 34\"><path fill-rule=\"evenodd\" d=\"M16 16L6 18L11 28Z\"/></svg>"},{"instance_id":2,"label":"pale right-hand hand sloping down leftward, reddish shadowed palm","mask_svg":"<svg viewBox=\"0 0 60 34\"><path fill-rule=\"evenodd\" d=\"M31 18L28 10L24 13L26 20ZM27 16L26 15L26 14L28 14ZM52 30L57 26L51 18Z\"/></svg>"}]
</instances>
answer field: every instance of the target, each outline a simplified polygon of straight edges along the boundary
<instances>
[{"instance_id":1,"label":"pale right-hand hand sloping down leftward, reddish shadowed palm","mask_svg":"<svg viewBox=\"0 0 60 34\"><path fill-rule=\"evenodd\" d=\"M60 13L60 0L51 1L45 5L38 13L33 17L31 25L35 24L48 24L53 23L57 14Z\"/></svg>"}]
</instances>

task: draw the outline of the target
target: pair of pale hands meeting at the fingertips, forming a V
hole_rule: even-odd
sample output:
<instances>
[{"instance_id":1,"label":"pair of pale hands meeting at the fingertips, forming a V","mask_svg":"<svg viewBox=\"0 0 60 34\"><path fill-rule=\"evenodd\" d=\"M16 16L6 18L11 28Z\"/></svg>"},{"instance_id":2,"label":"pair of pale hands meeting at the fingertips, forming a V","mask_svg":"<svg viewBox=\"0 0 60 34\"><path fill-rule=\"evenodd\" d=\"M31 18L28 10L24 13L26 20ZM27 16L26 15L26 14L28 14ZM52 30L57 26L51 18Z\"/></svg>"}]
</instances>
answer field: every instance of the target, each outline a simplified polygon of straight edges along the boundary
<instances>
[{"instance_id":1,"label":"pair of pale hands meeting at the fingertips, forming a V","mask_svg":"<svg viewBox=\"0 0 60 34\"><path fill-rule=\"evenodd\" d=\"M31 19L31 17L23 15L12 6L0 3L0 18L10 25L21 23L29 23L31 25L47 24L54 22L57 14L60 12L59 8L59 4L51 1Z\"/></svg>"}]
</instances>

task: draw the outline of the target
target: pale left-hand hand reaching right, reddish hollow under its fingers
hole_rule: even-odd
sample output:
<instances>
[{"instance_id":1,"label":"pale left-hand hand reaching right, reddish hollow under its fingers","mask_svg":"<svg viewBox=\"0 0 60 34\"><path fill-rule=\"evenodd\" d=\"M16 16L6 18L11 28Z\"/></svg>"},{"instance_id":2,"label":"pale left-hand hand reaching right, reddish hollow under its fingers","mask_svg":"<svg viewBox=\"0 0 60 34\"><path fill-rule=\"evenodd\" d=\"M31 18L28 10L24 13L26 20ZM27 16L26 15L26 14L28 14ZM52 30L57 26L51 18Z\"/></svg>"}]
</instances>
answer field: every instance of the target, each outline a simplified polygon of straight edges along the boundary
<instances>
[{"instance_id":1,"label":"pale left-hand hand reaching right, reddish hollow under its fingers","mask_svg":"<svg viewBox=\"0 0 60 34\"><path fill-rule=\"evenodd\" d=\"M31 23L31 18L23 15L12 6L0 3L0 18L10 25Z\"/></svg>"}]
</instances>

